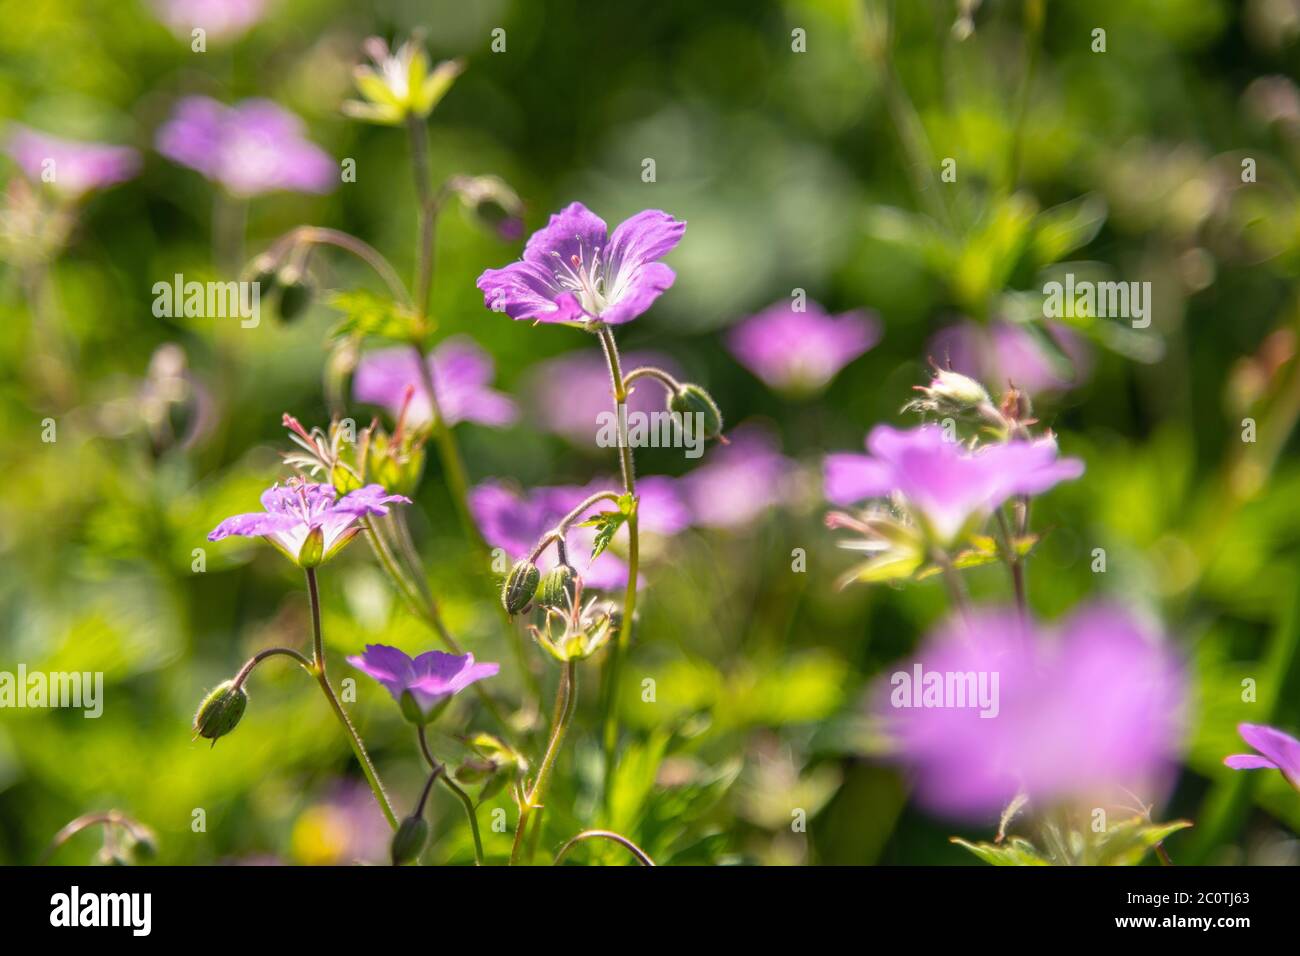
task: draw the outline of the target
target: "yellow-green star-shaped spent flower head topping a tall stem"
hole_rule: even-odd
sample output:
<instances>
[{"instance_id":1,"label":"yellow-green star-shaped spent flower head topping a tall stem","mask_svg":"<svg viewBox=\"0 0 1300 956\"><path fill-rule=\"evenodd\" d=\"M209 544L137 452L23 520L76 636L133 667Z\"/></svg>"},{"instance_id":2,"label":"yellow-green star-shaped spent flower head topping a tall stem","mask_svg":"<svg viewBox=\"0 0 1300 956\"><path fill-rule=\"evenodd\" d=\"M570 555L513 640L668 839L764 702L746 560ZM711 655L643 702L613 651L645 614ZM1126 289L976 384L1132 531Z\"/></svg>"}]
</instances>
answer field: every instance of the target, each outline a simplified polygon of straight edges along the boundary
<instances>
[{"instance_id":1,"label":"yellow-green star-shaped spent flower head topping a tall stem","mask_svg":"<svg viewBox=\"0 0 1300 956\"><path fill-rule=\"evenodd\" d=\"M429 116L465 69L462 60L443 60L430 69L429 56L416 40L390 51L382 39L370 36L363 48L370 64L358 66L352 77L364 101L347 100L343 112L384 126Z\"/></svg>"}]
</instances>

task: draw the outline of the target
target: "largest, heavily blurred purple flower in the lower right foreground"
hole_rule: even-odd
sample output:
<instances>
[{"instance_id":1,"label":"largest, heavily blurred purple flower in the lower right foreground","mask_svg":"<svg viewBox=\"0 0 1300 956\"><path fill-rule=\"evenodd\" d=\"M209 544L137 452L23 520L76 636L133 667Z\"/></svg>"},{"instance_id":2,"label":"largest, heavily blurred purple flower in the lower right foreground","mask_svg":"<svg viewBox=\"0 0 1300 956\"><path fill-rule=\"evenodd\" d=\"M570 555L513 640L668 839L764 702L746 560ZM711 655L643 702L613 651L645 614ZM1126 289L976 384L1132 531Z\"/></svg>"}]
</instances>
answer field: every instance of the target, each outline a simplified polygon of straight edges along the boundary
<instances>
[{"instance_id":1,"label":"largest, heavily blurred purple flower in the lower right foreground","mask_svg":"<svg viewBox=\"0 0 1300 956\"><path fill-rule=\"evenodd\" d=\"M1036 806L1154 795L1176 763L1184 691L1170 652L1117 607L1075 611L1050 636L980 610L935 632L875 710L920 801L980 818L1017 793Z\"/></svg>"}]
</instances>

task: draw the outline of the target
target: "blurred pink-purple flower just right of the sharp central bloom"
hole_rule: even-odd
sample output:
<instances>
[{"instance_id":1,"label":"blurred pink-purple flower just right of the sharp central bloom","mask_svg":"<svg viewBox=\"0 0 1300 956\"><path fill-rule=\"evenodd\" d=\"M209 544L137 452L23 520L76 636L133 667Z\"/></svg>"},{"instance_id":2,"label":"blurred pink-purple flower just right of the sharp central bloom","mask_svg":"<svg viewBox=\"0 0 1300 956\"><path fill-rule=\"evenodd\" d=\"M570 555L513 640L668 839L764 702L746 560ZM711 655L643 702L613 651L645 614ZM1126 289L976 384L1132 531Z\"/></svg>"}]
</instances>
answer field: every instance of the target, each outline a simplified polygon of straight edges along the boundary
<instances>
[{"instance_id":1,"label":"blurred pink-purple flower just right of the sharp central bloom","mask_svg":"<svg viewBox=\"0 0 1300 956\"><path fill-rule=\"evenodd\" d=\"M796 312L777 302L732 329L727 347L770 388L811 394L879 341L880 323L866 312L831 316L815 302Z\"/></svg>"}]
</instances>

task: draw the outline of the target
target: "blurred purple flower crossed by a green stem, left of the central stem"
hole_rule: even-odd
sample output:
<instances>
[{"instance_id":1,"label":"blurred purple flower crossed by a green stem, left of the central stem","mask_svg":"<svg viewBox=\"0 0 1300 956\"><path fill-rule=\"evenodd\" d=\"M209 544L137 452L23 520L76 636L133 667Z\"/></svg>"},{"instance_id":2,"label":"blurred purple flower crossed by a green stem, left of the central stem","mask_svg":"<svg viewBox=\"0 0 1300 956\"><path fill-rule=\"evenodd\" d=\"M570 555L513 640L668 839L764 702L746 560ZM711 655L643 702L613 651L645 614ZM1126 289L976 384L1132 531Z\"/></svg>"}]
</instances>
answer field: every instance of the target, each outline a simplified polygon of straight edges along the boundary
<instances>
[{"instance_id":1,"label":"blurred purple flower crossed by a green stem, left of the central stem","mask_svg":"<svg viewBox=\"0 0 1300 956\"><path fill-rule=\"evenodd\" d=\"M428 355L426 362L438 407L448 425L477 421L502 427L515 420L515 403L488 388L493 360L472 338L448 338ZM415 389L407 423L421 425L433 416L415 352L403 347L380 349L361 356L352 378L352 395L358 402L384 406L395 418L402 411L407 386Z\"/></svg>"}]
</instances>

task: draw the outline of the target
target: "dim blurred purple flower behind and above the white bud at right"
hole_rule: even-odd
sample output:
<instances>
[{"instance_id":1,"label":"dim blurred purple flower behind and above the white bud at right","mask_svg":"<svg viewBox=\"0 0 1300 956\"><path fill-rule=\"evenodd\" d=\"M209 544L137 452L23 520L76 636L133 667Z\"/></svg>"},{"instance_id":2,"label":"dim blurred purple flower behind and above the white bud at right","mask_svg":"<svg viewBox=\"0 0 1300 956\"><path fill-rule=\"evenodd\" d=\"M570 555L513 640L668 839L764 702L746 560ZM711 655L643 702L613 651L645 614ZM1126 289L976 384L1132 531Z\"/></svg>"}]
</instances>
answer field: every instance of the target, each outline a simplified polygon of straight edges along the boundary
<instances>
[{"instance_id":1,"label":"dim blurred purple flower behind and above the white bud at right","mask_svg":"<svg viewBox=\"0 0 1300 956\"><path fill-rule=\"evenodd\" d=\"M1061 323L1043 323L1043 330L1061 346L1072 373L1053 363L1034 333L1019 325L994 321L988 325L963 321L940 329L930 341L930 354L942 368L970 376L994 390L1008 384L1037 395L1063 392L1087 380L1092 356L1087 342Z\"/></svg>"}]
</instances>

